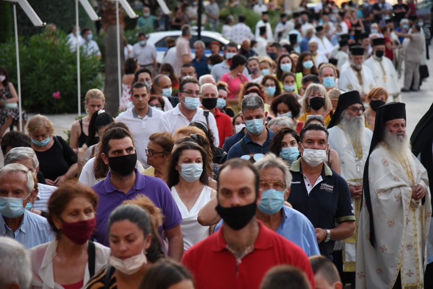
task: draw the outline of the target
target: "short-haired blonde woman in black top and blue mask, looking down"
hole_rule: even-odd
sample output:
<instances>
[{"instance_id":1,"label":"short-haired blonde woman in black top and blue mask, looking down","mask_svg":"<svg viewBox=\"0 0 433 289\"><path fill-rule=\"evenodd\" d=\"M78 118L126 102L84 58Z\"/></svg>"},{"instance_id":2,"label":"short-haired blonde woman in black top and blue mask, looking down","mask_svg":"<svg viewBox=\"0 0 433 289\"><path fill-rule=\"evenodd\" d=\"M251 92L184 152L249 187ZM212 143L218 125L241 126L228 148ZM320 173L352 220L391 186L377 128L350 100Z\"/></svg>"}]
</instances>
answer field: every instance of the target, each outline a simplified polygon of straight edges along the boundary
<instances>
[{"instance_id":1,"label":"short-haired blonde woman in black top and blue mask, looking down","mask_svg":"<svg viewBox=\"0 0 433 289\"><path fill-rule=\"evenodd\" d=\"M59 186L76 175L75 152L61 137L52 135L54 124L46 116L38 114L32 117L27 130L47 185Z\"/></svg>"}]
</instances>

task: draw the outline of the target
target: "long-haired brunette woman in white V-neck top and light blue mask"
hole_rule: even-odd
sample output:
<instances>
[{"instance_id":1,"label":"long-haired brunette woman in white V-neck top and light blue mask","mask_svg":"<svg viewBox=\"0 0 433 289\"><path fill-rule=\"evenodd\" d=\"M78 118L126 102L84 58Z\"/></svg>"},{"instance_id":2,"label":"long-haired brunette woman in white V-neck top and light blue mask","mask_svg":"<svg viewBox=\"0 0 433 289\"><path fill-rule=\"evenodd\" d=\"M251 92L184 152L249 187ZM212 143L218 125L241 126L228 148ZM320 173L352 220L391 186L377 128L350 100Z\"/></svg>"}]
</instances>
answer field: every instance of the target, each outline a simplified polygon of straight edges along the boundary
<instances>
[{"instance_id":1,"label":"long-haired brunette woman in white V-neck top and light blue mask","mask_svg":"<svg viewBox=\"0 0 433 289\"><path fill-rule=\"evenodd\" d=\"M175 148L167 170L167 185L182 214L184 251L213 232L213 226L197 222L201 207L217 195L217 191L207 186L210 174L210 156L201 146L184 142Z\"/></svg>"}]
</instances>

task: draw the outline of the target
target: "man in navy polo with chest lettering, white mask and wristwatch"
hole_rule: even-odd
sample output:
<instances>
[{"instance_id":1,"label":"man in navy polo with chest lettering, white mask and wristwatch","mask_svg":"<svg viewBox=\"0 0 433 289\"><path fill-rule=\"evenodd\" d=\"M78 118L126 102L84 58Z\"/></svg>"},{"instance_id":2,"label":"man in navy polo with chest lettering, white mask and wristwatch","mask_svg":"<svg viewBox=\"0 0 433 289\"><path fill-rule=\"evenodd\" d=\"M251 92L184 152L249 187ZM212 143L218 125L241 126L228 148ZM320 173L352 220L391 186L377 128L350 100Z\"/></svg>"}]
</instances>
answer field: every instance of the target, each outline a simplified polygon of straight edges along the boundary
<instances>
[{"instance_id":1,"label":"man in navy polo with chest lettering, white mask and wristwatch","mask_svg":"<svg viewBox=\"0 0 433 289\"><path fill-rule=\"evenodd\" d=\"M332 260L335 241L347 239L355 231L349 188L324 163L329 152L326 127L309 123L301 130L300 139L301 157L290 168L293 179L287 201L310 220L320 253Z\"/></svg>"}]
</instances>

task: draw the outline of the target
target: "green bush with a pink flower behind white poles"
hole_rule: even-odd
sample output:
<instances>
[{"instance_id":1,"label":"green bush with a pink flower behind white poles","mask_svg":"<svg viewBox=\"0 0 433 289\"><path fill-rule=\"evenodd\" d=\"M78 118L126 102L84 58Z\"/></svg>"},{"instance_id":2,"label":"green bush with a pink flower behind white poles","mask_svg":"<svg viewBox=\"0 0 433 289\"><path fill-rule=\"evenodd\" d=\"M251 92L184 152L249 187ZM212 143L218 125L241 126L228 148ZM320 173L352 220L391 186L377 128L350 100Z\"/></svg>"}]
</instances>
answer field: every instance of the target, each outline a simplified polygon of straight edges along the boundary
<instances>
[{"instance_id":1,"label":"green bush with a pink flower behind white poles","mask_svg":"<svg viewBox=\"0 0 433 289\"><path fill-rule=\"evenodd\" d=\"M76 53L66 44L66 34L59 31L51 41L34 35L19 39L21 95L23 108L41 114L75 113L77 111ZM17 86L15 41L0 44L0 63L9 71ZM80 55L81 95L89 89L103 87L102 64L96 56ZM53 97L59 91L60 98ZM84 106L82 106L84 107Z\"/></svg>"}]
</instances>

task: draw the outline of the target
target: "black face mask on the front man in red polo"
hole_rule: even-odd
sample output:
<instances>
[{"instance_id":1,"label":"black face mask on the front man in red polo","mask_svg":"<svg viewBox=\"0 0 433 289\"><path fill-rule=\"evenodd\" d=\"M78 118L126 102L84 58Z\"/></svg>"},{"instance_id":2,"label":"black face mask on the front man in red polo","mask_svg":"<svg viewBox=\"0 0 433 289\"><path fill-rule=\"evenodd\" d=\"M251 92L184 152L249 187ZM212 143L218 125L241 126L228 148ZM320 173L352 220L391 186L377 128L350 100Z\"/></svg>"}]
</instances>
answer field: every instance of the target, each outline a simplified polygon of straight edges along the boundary
<instances>
[{"instance_id":1,"label":"black face mask on the front man in red polo","mask_svg":"<svg viewBox=\"0 0 433 289\"><path fill-rule=\"evenodd\" d=\"M256 201L254 201L249 205L228 208L224 208L218 204L215 209L224 220L224 223L237 231L245 228L245 226L256 215L257 204Z\"/></svg>"}]
</instances>

